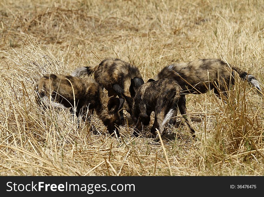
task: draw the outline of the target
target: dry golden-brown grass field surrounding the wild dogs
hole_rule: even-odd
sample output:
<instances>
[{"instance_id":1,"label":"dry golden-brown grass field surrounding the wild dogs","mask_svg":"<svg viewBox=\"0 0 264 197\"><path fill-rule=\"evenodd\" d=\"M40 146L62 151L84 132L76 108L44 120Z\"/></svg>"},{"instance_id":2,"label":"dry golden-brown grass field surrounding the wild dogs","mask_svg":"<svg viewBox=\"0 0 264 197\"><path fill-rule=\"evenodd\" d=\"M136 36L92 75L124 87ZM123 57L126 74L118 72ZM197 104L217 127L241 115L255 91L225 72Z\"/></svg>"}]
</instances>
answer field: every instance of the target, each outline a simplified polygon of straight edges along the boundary
<instances>
[{"instance_id":1,"label":"dry golden-brown grass field surrounding the wild dogs","mask_svg":"<svg viewBox=\"0 0 264 197\"><path fill-rule=\"evenodd\" d=\"M236 74L225 104L213 92L187 95L193 140L179 115L159 143L151 124L122 142L94 114L98 135L69 110L43 111L35 82L45 73L120 58L146 82L171 62L221 58L264 81L264 1L0 2L0 175L264 175L263 99ZM153 117L152 121L153 123Z\"/></svg>"}]
</instances>

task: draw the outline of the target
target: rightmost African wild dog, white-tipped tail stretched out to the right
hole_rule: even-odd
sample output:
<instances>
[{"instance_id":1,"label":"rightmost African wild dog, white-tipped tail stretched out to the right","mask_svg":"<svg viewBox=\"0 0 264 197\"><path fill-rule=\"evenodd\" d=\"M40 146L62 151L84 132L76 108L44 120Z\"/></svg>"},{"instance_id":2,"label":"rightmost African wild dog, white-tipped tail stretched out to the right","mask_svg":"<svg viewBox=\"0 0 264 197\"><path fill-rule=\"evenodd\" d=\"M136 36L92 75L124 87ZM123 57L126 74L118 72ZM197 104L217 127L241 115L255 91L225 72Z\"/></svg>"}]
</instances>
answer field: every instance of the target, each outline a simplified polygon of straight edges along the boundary
<instances>
[{"instance_id":1,"label":"rightmost African wild dog, white-tipped tail stretched out to the right","mask_svg":"<svg viewBox=\"0 0 264 197\"><path fill-rule=\"evenodd\" d=\"M258 81L251 74L247 74L238 67L230 66L220 59L200 59L190 61L188 63L174 63L164 67L155 80L158 79L174 79L184 90L184 94L203 94L214 89L214 93L221 98L228 97L228 91L235 83L235 70L241 79L250 82L261 94L261 88ZM173 117L177 116L177 112ZM174 125L176 118L170 120L170 124Z\"/></svg>"}]
</instances>

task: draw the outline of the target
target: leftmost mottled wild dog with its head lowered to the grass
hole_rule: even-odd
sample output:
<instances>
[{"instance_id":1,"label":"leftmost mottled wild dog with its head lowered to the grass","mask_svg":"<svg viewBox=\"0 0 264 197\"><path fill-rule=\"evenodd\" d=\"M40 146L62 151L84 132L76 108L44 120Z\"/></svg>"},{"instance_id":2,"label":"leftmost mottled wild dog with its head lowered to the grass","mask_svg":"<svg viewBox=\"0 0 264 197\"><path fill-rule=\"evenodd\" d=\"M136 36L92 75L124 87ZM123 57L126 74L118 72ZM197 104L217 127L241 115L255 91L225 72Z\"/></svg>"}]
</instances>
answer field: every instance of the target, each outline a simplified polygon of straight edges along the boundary
<instances>
[{"instance_id":1,"label":"leftmost mottled wild dog with its head lowered to the grass","mask_svg":"<svg viewBox=\"0 0 264 197\"><path fill-rule=\"evenodd\" d=\"M86 113L91 115L95 110L109 133L112 134L116 130L119 136L118 129L121 124L119 109L125 100L116 97L109 99L94 79L46 74L36 83L35 91L39 105L70 108L73 114L75 110L77 117L83 114L83 120Z\"/></svg>"}]
</instances>

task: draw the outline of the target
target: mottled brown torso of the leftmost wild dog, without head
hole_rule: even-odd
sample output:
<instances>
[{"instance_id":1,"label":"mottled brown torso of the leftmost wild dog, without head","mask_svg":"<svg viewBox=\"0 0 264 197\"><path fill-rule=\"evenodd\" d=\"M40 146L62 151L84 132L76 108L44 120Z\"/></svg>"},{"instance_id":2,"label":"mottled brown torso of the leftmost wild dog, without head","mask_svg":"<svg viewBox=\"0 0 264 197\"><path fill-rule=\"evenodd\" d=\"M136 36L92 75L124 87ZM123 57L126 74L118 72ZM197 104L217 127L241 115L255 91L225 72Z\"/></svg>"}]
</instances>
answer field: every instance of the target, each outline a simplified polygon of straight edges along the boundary
<instances>
[{"instance_id":1,"label":"mottled brown torso of the leftmost wild dog, without head","mask_svg":"<svg viewBox=\"0 0 264 197\"><path fill-rule=\"evenodd\" d=\"M100 96L98 85L92 78L83 80L73 76L46 74L38 80L35 87L39 95L38 102L51 96L53 101L67 108L74 107L75 98L76 109L83 107L86 102L94 109Z\"/></svg>"}]
</instances>

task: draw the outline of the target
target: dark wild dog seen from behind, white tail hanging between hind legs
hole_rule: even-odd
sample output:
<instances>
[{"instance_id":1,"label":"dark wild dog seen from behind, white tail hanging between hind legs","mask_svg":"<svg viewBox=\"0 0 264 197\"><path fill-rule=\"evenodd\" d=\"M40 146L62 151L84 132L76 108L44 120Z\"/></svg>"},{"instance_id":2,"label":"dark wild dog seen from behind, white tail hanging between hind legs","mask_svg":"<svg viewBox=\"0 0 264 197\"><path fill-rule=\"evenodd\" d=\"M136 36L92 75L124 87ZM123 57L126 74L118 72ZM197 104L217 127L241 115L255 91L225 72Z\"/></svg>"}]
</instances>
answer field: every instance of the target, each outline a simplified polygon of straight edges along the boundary
<instances>
[{"instance_id":1,"label":"dark wild dog seen from behind, white tail hanging between hind legs","mask_svg":"<svg viewBox=\"0 0 264 197\"><path fill-rule=\"evenodd\" d=\"M156 129L162 136L165 132L166 122L170 120L173 112L179 109L194 137L195 131L191 126L189 116L186 115L185 94L182 94L182 91L181 86L173 79L158 81L149 79L147 83L138 88L134 99L124 95L132 108L132 118L137 123L133 134L137 136L137 130L142 130L142 123L143 125L149 124L151 112L154 111L155 121L150 132L156 136L155 141L158 141Z\"/></svg>"}]
</instances>

